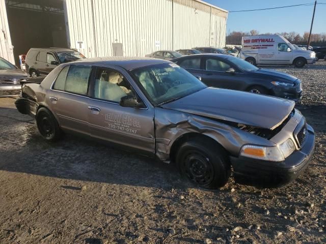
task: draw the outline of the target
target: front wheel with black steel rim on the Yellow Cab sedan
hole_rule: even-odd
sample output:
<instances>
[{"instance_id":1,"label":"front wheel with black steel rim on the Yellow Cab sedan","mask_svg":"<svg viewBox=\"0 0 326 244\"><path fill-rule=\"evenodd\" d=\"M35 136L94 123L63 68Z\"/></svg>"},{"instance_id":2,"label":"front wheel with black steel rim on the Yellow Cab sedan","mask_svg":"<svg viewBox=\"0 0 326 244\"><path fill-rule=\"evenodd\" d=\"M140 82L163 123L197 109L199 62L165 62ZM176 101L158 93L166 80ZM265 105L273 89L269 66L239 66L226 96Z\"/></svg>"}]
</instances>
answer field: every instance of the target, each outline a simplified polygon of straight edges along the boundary
<instances>
[{"instance_id":1,"label":"front wheel with black steel rim on the Yellow Cab sedan","mask_svg":"<svg viewBox=\"0 0 326 244\"><path fill-rule=\"evenodd\" d=\"M231 174L231 165L224 148L204 139L183 143L176 162L182 176L206 189L225 186Z\"/></svg>"}]
</instances>

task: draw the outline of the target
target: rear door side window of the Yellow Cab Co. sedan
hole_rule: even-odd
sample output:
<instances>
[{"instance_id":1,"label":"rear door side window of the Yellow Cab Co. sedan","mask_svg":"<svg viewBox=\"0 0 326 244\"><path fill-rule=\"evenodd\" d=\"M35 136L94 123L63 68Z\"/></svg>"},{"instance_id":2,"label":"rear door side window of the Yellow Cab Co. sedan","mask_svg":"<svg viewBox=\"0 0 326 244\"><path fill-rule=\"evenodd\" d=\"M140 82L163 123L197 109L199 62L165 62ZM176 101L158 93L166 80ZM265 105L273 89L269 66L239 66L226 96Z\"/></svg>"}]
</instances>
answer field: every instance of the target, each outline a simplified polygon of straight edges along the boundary
<instances>
[{"instance_id":1,"label":"rear door side window of the Yellow Cab Co. sedan","mask_svg":"<svg viewBox=\"0 0 326 244\"><path fill-rule=\"evenodd\" d=\"M58 75L53 88L69 93L87 95L88 80L91 71L91 66L66 66Z\"/></svg>"}]
</instances>

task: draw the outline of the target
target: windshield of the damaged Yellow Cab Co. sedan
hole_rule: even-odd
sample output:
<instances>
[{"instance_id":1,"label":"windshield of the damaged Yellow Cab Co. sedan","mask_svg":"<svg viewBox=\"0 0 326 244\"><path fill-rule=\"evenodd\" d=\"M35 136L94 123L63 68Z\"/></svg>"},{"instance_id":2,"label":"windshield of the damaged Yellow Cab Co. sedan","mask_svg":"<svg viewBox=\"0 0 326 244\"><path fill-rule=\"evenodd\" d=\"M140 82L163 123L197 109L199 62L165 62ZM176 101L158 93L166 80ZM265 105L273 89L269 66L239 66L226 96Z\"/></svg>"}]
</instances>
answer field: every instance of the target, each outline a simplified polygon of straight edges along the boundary
<instances>
[{"instance_id":1,"label":"windshield of the damaged Yellow Cab Co. sedan","mask_svg":"<svg viewBox=\"0 0 326 244\"><path fill-rule=\"evenodd\" d=\"M168 103L207 86L176 64L158 64L131 71L154 105Z\"/></svg>"}]
</instances>

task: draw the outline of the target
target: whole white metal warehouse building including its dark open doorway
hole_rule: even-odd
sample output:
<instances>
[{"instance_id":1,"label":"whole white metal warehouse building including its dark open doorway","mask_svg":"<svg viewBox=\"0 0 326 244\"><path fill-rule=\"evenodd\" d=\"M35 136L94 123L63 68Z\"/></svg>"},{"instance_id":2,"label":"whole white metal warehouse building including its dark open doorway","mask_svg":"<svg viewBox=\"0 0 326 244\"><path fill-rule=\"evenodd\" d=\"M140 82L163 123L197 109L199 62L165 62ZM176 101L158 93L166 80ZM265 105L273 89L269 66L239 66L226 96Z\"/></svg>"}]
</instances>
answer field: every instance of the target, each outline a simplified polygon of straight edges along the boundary
<instances>
[{"instance_id":1,"label":"whole white metal warehouse building including its dark open doorway","mask_svg":"<svg viewBox=\"0 0 326 244\"><path fill-rule=\"evenodd\" d=\"M17 64L31 47L70 47L86 57L224 47L227 16L200 0L0 0L0 56Z\"/></svg>"}]
</instances>

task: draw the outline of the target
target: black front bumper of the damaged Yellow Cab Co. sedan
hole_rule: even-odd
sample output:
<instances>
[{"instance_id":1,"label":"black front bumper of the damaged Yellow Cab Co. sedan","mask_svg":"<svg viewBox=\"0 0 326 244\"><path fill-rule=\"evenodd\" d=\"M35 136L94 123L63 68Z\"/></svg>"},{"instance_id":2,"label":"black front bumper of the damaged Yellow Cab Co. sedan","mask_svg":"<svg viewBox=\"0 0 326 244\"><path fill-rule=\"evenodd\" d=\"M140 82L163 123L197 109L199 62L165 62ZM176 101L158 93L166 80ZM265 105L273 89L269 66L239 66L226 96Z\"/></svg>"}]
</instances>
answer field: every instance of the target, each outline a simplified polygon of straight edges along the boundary
<instances>
[{"instance_id":1,"label":"black front bumper of the damaged Yellow Cab Co. sedan","mask_svg":"<svg viewBox=\"0 0 326 244\"><path fill-rule=\"evenodd\" d=\"M283 162L268 162L246 157L231 157L235 180L260 187L281 187L297 178L309 165L315 148L315 133L308 125L308 136L301 150Z\"/></svg>"}]
</instances>

